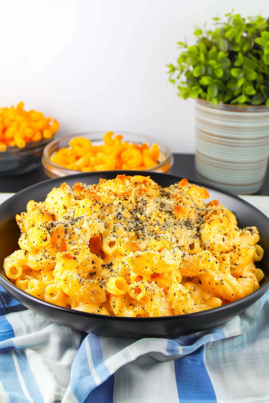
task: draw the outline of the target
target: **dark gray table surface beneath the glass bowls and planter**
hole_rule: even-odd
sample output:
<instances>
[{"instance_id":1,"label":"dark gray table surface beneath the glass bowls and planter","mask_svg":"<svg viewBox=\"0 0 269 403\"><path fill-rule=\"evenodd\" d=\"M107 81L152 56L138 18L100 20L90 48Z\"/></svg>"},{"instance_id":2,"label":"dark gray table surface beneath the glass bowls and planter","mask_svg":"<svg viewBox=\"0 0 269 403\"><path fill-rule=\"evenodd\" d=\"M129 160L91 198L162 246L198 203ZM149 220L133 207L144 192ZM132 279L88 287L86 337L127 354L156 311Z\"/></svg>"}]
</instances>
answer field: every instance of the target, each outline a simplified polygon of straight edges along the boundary
<instances>
[{"instance_id":1,"label":"dark gray table surface beneath the glass bowls and planter","mask_svg":"<svg viewBox=\"0 0 269 403\"><path fill-rule=\"evenodd\" d=\"M174 154L175 162L171 170L171 174L178 175L180 177L195 180L195 169L194 169L194 155L193 154ZM0 193L2 192L18 192L25 187L34 185L35 183L46 181L49 179L42 166L39 168L28 172L23 175L2 177L0 176ZM200 182L199 179L197 179ZM269 195L269 169L267 168L267 173L265 181L261 190L256 193L257 195Z\"/></svg>"}]
</instances>

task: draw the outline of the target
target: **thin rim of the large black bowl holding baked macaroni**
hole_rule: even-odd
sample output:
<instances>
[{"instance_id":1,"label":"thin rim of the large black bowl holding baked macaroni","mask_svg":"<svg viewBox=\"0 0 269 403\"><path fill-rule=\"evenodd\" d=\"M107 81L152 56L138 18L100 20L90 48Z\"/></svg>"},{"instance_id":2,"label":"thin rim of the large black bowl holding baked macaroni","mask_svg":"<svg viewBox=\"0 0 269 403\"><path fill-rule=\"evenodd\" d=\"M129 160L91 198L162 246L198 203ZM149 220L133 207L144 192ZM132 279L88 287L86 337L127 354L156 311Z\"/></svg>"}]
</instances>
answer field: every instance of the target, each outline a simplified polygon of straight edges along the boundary
<instances>
[{"instance_id":1,"label":"thin rim of the large black bowl holding baked macaroni","mask_svg":"<svg viewBox=\"0 0 269 403\"><path fill-rule=\"evenodd\" d=\"M121 170L113 170L113 171L99 171L99 172L80 172L80 175L81 176L83 176L83 177L90 177L90 176L93 176L93 175L96 175L96 174L111 174L111 173L115 173L116 175L117 174L123 174L122 173L122 171ZM158 174L158 175L161 175L161 176L169 176L170 178L175 178L175 183L177 182L177 181L179 181L180 179L182 179L181 177L179 177L179 176L177 176L177 175L171 175L171 174L165 174L165 173L163 173L163 172L152 172L153 174ZM126 170L125 171L125 174L127 175L127 176L133 176L133 175L145 175L145 176L148 176L148 174L149 174L149 171L132 171L132 170ZM11 197L9 197L6 201L4 201L3 203L1 203L0 204L0 206L3 206L3 205L5 205L5 204L7 204L7 205L9 205L10 204L10 200L12 200L12 198L14 197L19 197L22 193L28 193L29 192L29 190L31 190L31 189L33 189L33 188L35 188L35 187L42 187L42 185L44 185L45 183L47 184L47 183L52 183L52 187L54 187L53 186L53 183L54 182L57 182L57 181L59 181L59 179L74 179L75 181L77 181L77 174L73 174L73 175L68 175L68 176L66 176L66 177L56 177L56 178L53 178L53 179L47 179L46 181L42 181L42 182L39 182L39 183L35 183L34 185L31 185L31 186L29 186L29 187L26 187L25 189L22 189L21 191L19 191L19 192L17 192L17 193L15 193L13 196L11 196ZM186 179L188 179L188 178L186 178ZM189 179L188 179L189 180ZM254 209L254 210L256 210L261 216L263 216L263 218L265 219L265 221L268 221L269 222L269 218L265 215L265 214L263 214L263 212L261 212L259 209L257 209L256 207L254 207L254 206L252 206L252 204L250 204L250 203L248 203L248 202L246 202L245 200L243 200L243 199L241 199L238 195L236 195L236 194L234 194L234 193L231 193L231 192L229 192L229 191L223 191L223 190L220 190L220 189L217 189L217 188L215 188L215 187L213 187L213 186L211 186L211 185L207 185L207 184L205 184L205 183L201 183L201 182L199 182L199 181L196 181L196 180L194 180L194 179L190 179L189 180L190 181L190 183L194 183L194 184L196 184L196 185L199 185L199 186L202 186L202 187L204 187L204 186L206 186L206 188L208 188L208 189L212 189L213 191L217 191L217 192L219 192L219 193L223 193L223 194L226 194L226 195L229 195L229 196L231 196L232 198L234 198L234 199L237 199L237 200L240 200L240 202L242 203L242 204L245 204L246 206L250 206L252 209ZM56 310L58 310L59 312L60 311L63 311L63 312L72 312L73 314L78 314L79 316L86 316L86 317L88 317L89 319L90 318L100 318L100 316L102 317L102 318L105 318L105 319L108 319L108 320L118 320L118 321L121 321L121 320L123 320L123 321L125 321L125 322L129 322L130 320L131 321L133 321L133 320L135 320L136 322L146 322L146 321L148 321L148 320L150 320L150 322L158 322L158 321L160 321L160 320L172 320L172 319L179 319L179 318L181 318L181 317L184 317L184 318L188 318L188 317L190 317L190 315L191 315L191 317L192 318L195 318L195 317L199 317L199 316L203 316L204 314L206 314L206 312L215 312L215 313L217 313L217 312L223 312L223 311L226 311L226 310L231 310L233 307L235 307L235 306L237 306L237 305L244 305L244 303L242 302L242 301L251 301L252 299L255 299L255 300L258 300L258 299L260 299L264 294L265 294L265 292L269 289L269 279L263 284L263 285L261 285L261 287L259 287L258 289L256 289L255 291L252 291L252 293L250 293L250 294L248 294L248 295L246 295L245 297L243 297L243 298L240 298L240 299L238 299L237 301L233 301L233 302L230 302L230 303L228 303L228 304L226 304L226 305L221 305L221 306L219 306L219 307L215 307L215 308L211 308L211 309L208 309L208 310L205 310L205 311L199 311L199 312L191 312L190 314L181 314L181 315L173 315L173 316L156 316L156 317L145 317L145 318L133 318L133 317L129 317L129 316L112 316L112 315L101 315L101 314L94 314L94 313L91 313L91 312L85 312L85 311L78 311L78 310L75 310L75 309L71 309L71 308L67 308L67 307L62 307L62 306L59 306L59 305L56 305L56 304L53 304L53 303L51 303L51 302L48 302L48 301L44 301L44 300L42 300L42 299L40 299L40 298L38 298L38 297L34 297L33 295L30 295L30 294L28 294L26 291L23 291L22 289L20 289L20 288L18 288L18 287L16 287L8 278L6 278L1 272L0 272L0 285L2 285L3 286L3 283L8 283L8 285L9 286L12 286L12 288L14 288L19 294L21 294L21 295L23 295L23 296L25 296L26 297L26 299L30 299L31 301L38 301L38 303L40 303L41 305L48 305L49 307L54 307L54 309L56 309ZM4 287L4 286L3 286ZM4 287L5 288L5 287ZM258 298L255 298L255 297L258 297ZM23 304L22 304L23 305ZM250 303L250 305L251 305L251 303Z\"/></svg>"}]
</instances>

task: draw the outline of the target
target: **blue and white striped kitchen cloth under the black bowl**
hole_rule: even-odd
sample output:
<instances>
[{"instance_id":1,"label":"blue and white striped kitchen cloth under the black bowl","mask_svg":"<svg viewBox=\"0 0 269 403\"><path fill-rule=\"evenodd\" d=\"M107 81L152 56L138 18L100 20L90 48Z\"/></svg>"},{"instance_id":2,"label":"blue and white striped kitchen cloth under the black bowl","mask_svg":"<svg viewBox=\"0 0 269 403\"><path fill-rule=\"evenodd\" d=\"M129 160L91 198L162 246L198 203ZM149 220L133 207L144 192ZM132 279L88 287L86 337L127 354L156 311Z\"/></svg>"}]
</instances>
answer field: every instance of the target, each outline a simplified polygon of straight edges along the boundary
<instances>
[{"instance_id":1,"label":"blue and white striped kitchen cloth under the black bowl","mask_svg":"<svg viewBox=\"0 0 269 403\"><path fill-rule=\"evenodd\" d=\"M0 286L1 403L269 402L269 293L208 331L115 339L60 326Z\"/></svg>"}]
</instances>

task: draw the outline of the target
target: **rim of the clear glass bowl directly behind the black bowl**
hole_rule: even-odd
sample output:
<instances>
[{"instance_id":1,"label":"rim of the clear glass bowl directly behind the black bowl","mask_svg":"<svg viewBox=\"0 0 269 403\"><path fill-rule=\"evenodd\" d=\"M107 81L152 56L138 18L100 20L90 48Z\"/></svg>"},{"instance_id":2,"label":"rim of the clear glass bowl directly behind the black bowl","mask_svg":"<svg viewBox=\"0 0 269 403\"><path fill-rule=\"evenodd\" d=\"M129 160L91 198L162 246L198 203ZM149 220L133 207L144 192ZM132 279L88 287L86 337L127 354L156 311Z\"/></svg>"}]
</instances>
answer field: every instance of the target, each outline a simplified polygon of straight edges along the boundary
<instances>
[{"instance_id":1,"label":"rim of the clear glass bowl directly behind the black bowl","mask_svg":"<svg viewBox=\"0 0 269 403\"><path fill-rule=\"evenodd\" d=\"M103 137L106 132L107 131L105 131L105 130L84 131L84 132L81 132L81 133L70 134L70 135L67 135L67 136L61 136L61 137L58 137L57 139L54 139L53 141L50 141L49 144L46 144L46 146L44 147L44 150L43 150L43 154L42 154L42 164L43 164L43 166L44 166L44 163L43 163L43 159L44 159L44 161L46 163L52 165L54 168L61 168L61 169L65 170L65 172L70 172L69 175L72 175L73 172L81 172L79 170L76 171L76 170L72 170L72 169L69 169L69 168L64 168L63 166L55 164L55 162L52 162L50 160L50 156L49 156L49 153L48 153L49 147L52 147L54 145L54 143L56 143L56 141L60 141L60 140L63 140L63 139L72 139L72 138L75 138L75 137L83 137L86 134L91 134L91 133L92 134L96 133L96 135L100 134L101 137ZM150 139L150 140L154 140L154 142L155 142L155 140L156 140L156 144L161 145L166 150L168 155L165 158L165 160L163 160L162 162L160 162L157 165L154 165L152 168L148 168L146 170L147 172L150 172L150 171L158 169L158 168L162 168L163 166L168 164L170 160L171 160L171 166L173 165L173 153L171 152L171 150L168 147L168 145L166 143L164 143L163 141L158 140L155 137L148 136L146 134L140 134L140 133L135 133L135 132L131 132L131 131L114 130L113 133L115 133L115 134L116 133L117 134L125 133L126 135L139 135L139 136L144 137L145 141L147 139ZM92 141L102 141L102 138L101 139L92 139ZM47 167L45 167L45 168L47 169ZM113 171L115 171L115 170L113 169ZM105 171L102 171L102 172L105 172ZM145 172L145 171L141 171L141 172ZM67 176L69 176L69 175L67 175Z\"/></svg>"}]
</instances>

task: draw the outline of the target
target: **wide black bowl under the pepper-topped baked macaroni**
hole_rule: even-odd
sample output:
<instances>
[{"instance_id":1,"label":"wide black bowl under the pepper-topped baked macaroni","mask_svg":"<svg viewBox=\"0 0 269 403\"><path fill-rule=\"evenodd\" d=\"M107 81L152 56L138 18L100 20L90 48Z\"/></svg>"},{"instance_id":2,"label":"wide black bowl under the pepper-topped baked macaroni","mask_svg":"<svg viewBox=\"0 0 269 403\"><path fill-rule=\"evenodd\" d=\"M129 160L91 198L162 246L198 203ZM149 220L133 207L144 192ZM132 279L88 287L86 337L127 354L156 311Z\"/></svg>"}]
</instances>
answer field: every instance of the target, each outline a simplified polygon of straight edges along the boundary
<instances>
[{"instance_id":1,"label":"wide black bowl under the pepper-topped baked macaroni","mask_svg":"<svg viewBox=\"0 0 269 403\"><path fill-rule=\"evenodd\" d=\"M0 205L0 284L13 297L34 312L64 326L102 336L139 339L142 337L177 337L180 334L198 332L218 326L246 310L269 289L269 219L238 196L209 186L206 186L206 188L209 190L210 199L219 200L221 204L234 212L238 219L239 227L257 226L261 235L259 244L265 251L263 260L259 262L259 267L265 272L261 287L236 302L203 312L179 316L159 318L104 316L75 311L42 301L15 287L6 278L2 268L4 258L18 249L19 228L15 222L15 214L25 211L29 200L43 201L52 187L59 187L63 182L67 182L70 186L77 181L93 184L98 183L100 178L113 179L117 174L122 173L123 171L92 172L50 179L16 193ZM125 171L125 174L144 174L148 176L149 172ZM157 172L150 172L150 177L162 187L174 184L181 179L177 176ZM201 184L197 183L197 185Z\"/></svg>"}]
</instances>

